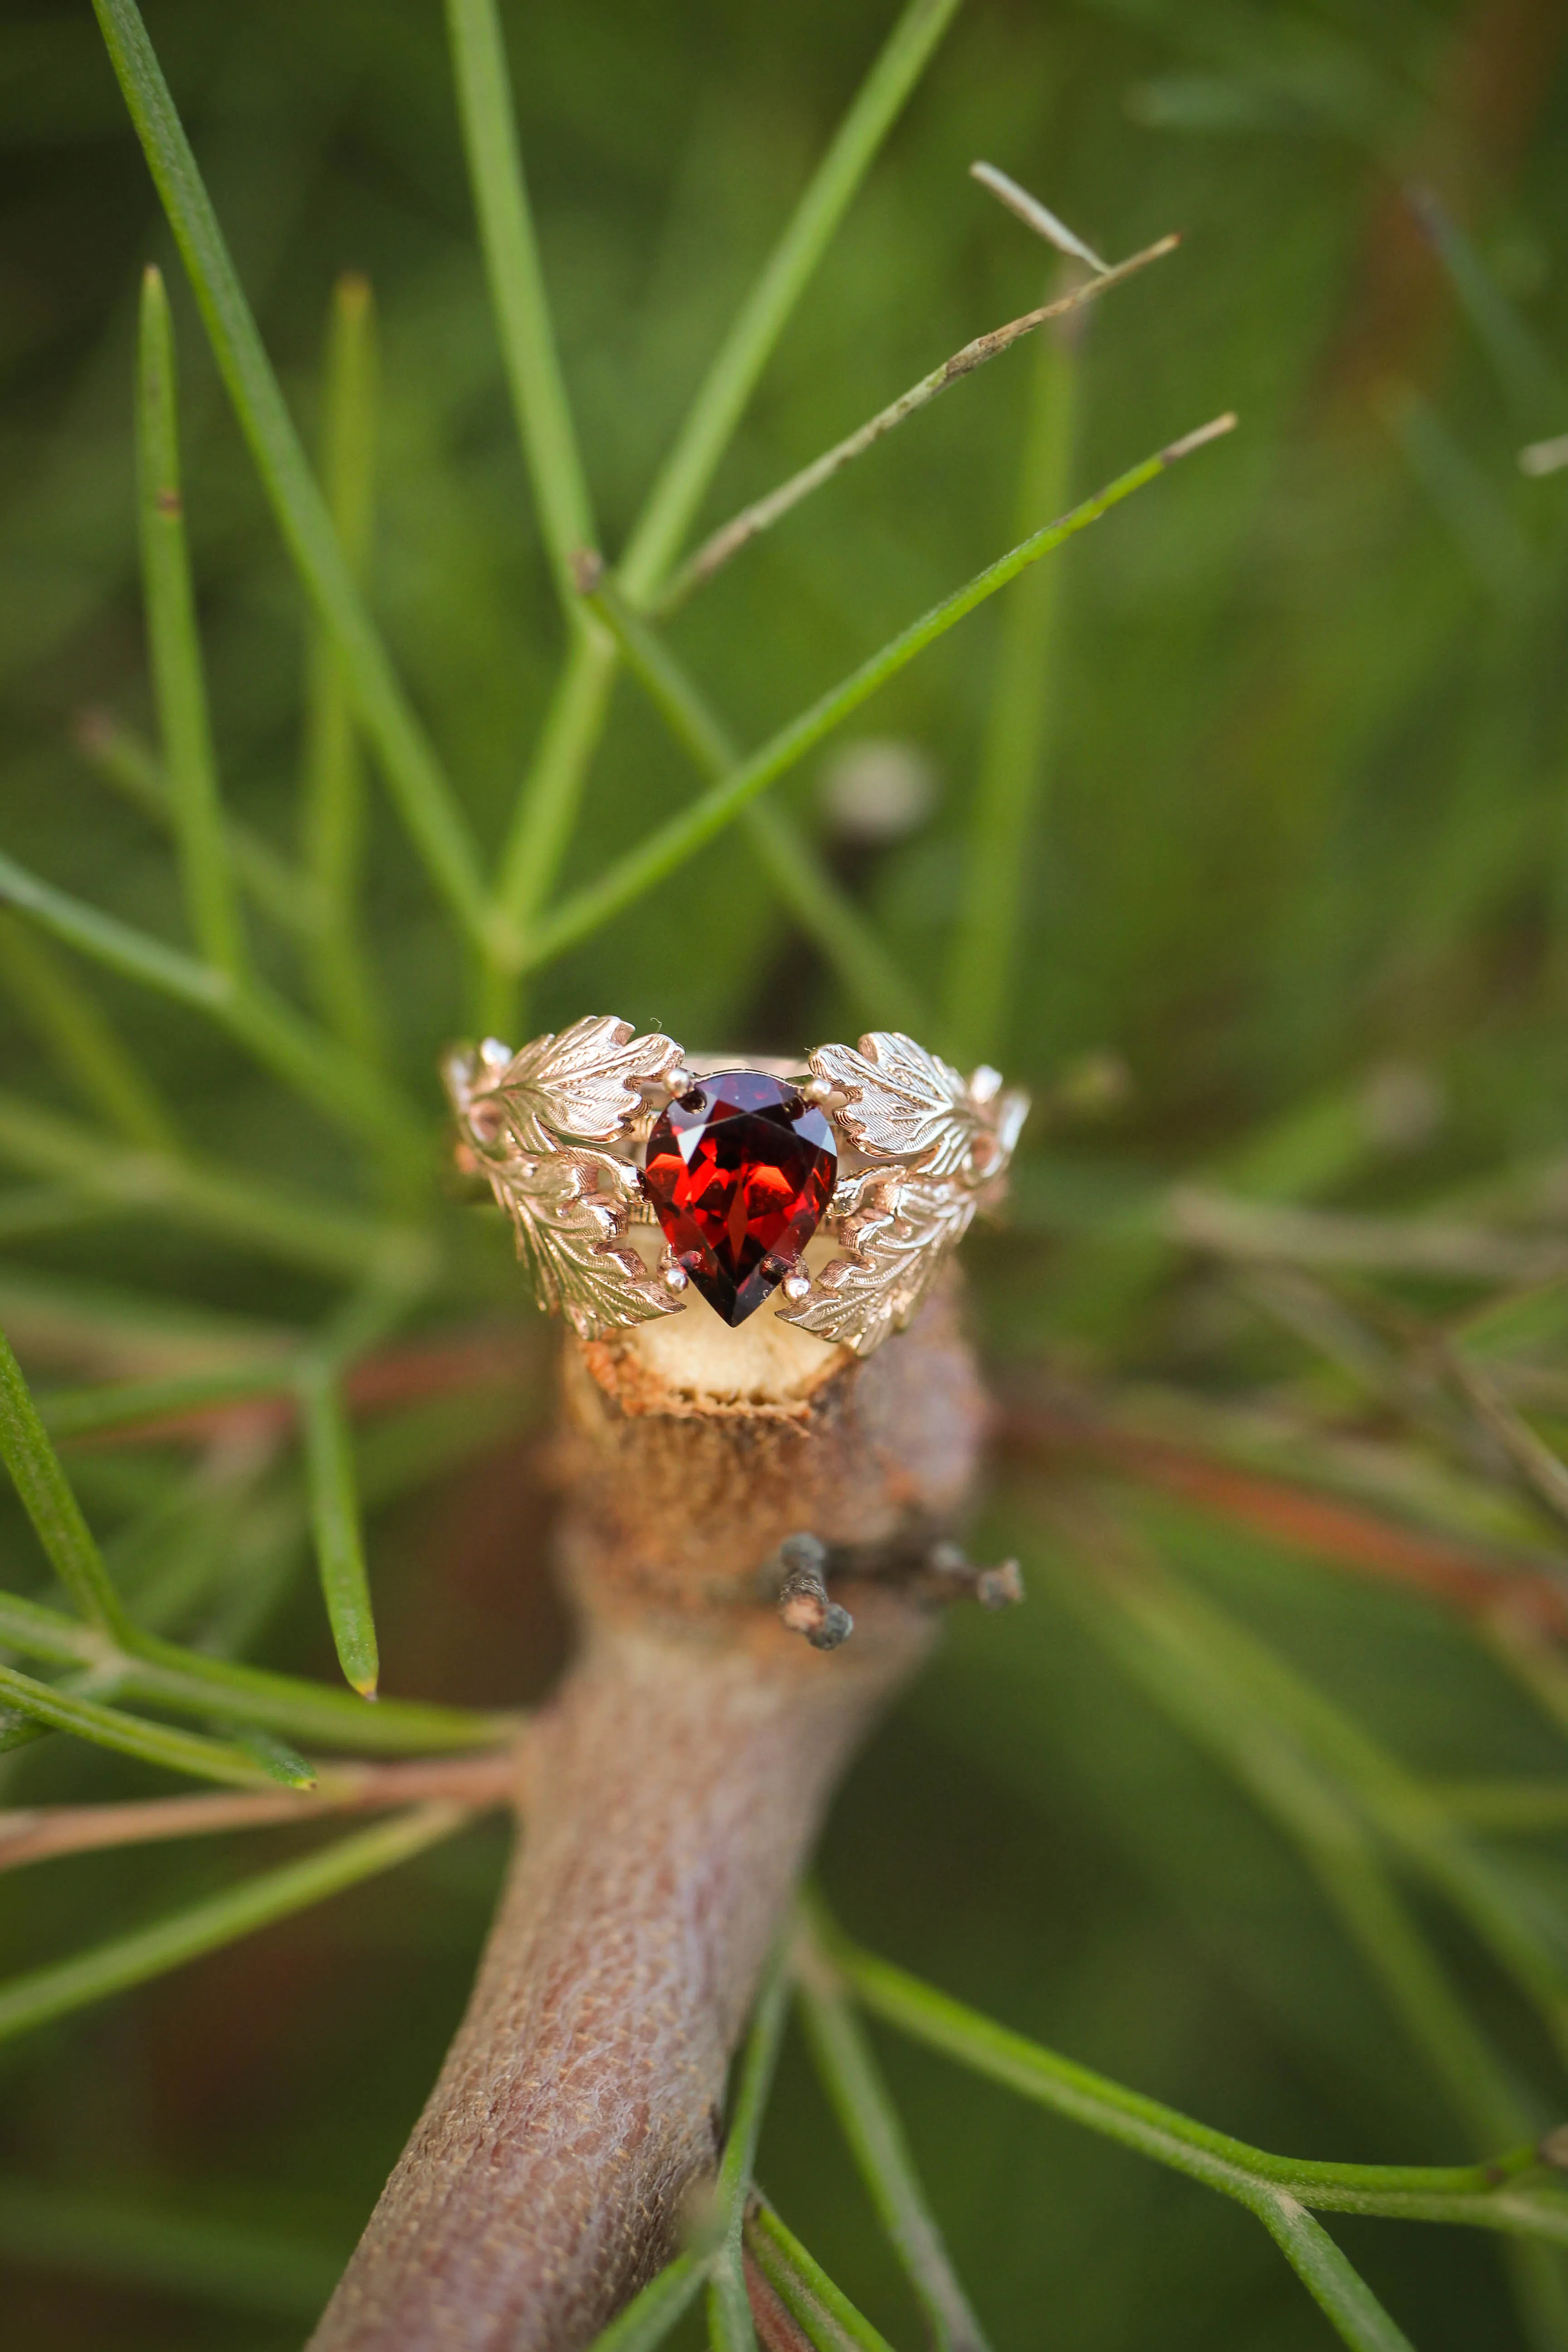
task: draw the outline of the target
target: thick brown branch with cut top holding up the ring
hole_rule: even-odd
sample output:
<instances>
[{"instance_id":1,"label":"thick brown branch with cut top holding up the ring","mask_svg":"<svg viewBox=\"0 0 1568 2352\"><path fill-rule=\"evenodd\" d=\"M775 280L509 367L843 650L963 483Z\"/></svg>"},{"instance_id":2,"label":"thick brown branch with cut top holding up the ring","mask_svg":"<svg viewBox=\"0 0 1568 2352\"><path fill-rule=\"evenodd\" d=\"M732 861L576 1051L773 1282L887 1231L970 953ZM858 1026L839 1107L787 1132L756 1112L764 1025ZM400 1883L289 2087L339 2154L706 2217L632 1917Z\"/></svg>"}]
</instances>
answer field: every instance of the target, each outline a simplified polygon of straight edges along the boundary
<instances>
[{"instance_id":1,"label":"thick brown branch with cut top holding up the ring","mask_svg":"<svg viewBox=\"0 0 1568 2352\"><path fill-rule=\"evenodd\" d=\"M675 2251L820 1811L926 1646L900 1573L980 1437L952 1305L865 1364L679 1322L567 1350L583 1649L529 1740L468 2016L313 2352L571 2352ZM759 1588L799 1531L853 1571L830 1653Z\"/></svg>"}]
</instances>

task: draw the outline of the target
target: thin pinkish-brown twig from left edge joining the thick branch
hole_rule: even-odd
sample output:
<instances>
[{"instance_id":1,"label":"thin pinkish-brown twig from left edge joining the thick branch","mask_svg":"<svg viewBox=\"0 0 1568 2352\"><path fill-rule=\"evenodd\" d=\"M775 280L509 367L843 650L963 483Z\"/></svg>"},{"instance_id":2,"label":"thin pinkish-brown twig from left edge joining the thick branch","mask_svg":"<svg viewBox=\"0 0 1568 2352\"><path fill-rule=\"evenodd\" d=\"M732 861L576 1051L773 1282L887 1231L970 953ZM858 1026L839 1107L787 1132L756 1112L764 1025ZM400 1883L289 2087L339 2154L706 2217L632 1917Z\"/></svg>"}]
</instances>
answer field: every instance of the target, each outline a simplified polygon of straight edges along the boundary
<instances>
[{"instance_id":1,"label":"thin pinkish-brown twig from left edge joining the thick branch","mask_svg":"<svg viewBox=\"0 0 1568 2352\"><path fill-rule=\"evenodd\" d=\"M52 1860L56 1853L101 1853L167 1837L219 1830L263 1830L317 1813L371 1813L397 1804L451 1799L465 1806L517 1802L517 1748L480 1757L430 1757L407 1764L331 1764L313 1790L221 1792L214 1797L153 1797L146 1804L42 1804L0 1813L0 1870Z\"/></svg>"}]
</instances>

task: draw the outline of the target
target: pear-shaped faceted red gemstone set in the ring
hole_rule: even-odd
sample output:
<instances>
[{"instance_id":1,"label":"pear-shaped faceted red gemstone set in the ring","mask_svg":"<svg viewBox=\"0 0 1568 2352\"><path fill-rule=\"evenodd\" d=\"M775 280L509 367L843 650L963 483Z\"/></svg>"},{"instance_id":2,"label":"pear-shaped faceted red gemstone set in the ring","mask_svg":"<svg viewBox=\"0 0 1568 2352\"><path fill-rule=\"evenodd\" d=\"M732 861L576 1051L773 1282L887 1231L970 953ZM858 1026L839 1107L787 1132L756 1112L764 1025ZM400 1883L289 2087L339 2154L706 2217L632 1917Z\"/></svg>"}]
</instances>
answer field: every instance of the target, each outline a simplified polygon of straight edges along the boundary
<instances>
[{"instance_id":1,"label":"pear-shaped faceted red gemstone set in the ring","mask_svg":"<svg viewBox=\"0 0 1568 2352\"><path fill-rule=\"evenodd\" d=\"M839 1145L804 1094L762 1070L719 1070L670 1103L644 1183L665 1242L708 1305L743 1324L818 1228Z\"/></svg>"}]
</instances>

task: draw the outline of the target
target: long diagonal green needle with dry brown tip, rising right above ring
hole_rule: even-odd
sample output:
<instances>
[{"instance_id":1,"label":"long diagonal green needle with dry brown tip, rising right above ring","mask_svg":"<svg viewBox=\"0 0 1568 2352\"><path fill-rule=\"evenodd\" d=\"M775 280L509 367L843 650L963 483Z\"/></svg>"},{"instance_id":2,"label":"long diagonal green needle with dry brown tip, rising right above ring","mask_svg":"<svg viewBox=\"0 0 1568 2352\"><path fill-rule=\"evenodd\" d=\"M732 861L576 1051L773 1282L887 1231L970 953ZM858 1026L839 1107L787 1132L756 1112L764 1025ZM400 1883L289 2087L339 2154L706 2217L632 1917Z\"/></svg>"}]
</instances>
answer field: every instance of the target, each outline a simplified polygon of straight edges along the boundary
<instances>
[{"instance_id":1,"label":"long diagonal green needle with dry brown tip, rising right above ring","mask_svg":"<svg viewBox=\"0 0 1568 2352\"><path fill-rule=\"evenodd\" d=\"M1143 459L1131 466L1105 489L1095 492L1093 499L1084 499L1074 506L1070 515L1060 522L1046 522L1039 532L1023 541L1023 546L1011 548L1006 555L978 572L964 588L933 604L931 612L912 621L910 628L900 630L898 637L889 640L870 661L863 661L858 670L851 670L837 687L811 703L797 720L790 720L776 736L771 736L762 750L755 750L750 760L710 786L708 793L698 793L679 816L672 816L665 826L658 826L644 842L618 858L597 882L588 882L583 889L574 891L562 906L555 908L531 934L524 969L548 962L562 955L567 948L576 946L597 931L611 915L621 908L632 906L644 891L654 889L658 882L668 880L686 858L705 849L708 842L729 826L748 800L764 793L776 783L788 769L806 757L809 750L832 734L851 710L858 710L879 687L896 677L898 670L907 668L917 654L924 654L929 644L954 628L966 614L983 604L987 597L1006 588L1009 581L1018 579L1032 562L1060 548L1063 541L1072 539L1077 532L1088 529L1100 515L1110 513L1133 492L1154 482L1168 466L1187 456L1192 449L1201 449L1208 440L1220 433L1229 433L1234 416L1218 416L1213 423L1201 426L1197 433L1187 433L1182 440L1171 442L1154 456ZM604 590L599 588L597 595ZM592 597L590 597L592 602Z\"/></svg>"}]
</instances>

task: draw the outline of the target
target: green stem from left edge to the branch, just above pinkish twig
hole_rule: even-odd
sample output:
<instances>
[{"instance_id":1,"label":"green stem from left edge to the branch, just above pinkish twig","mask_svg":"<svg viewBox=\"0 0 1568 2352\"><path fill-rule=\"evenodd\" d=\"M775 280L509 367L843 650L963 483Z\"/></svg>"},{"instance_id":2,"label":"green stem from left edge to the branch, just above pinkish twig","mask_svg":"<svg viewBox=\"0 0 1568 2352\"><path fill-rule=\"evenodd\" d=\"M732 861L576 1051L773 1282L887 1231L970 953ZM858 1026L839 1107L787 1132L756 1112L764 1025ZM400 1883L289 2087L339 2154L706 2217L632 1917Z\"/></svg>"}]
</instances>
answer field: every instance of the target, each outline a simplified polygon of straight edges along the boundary
<instances>
[{"instance_id":1,"label":"green stem from left edge to the branch, just above pinkish twig","mask_svg":"<svg viewBox=\"0 0 1568 2352\"><path fill-rule=\"evenodd\" d=\"M143 1630L113 1639L16 1592L0 1592L0 1646L54 1665L87 1668L120 1698L141 1698L176 1715L261 1724L284 1738L324 1748L433 1755L503 1745L517 1736L515 1715L482 1715L477 1708L442 1708L409 1698L381 1698L367 1708L348 1691L181 1649L179 1642Z\"/></svg>"}]
</instances>

